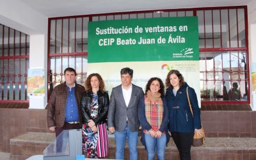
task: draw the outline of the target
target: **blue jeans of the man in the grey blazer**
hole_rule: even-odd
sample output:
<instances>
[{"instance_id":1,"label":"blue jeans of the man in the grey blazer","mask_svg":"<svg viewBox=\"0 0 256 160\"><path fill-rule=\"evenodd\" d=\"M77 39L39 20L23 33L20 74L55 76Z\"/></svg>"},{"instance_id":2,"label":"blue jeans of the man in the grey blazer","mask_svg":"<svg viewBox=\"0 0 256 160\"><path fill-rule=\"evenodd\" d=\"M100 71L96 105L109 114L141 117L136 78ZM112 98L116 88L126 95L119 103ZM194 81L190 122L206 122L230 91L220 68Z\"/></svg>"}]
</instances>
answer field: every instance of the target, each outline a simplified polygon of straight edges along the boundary
<instances>
[{"instance_id":1,"label":"blue jeans of the man in the grey blazer","mask_svg":"<svg viewBox=\"0 0 256 160\"><path fill-rule=\"evenodd\" d=\"M115 132L115 142L116 142L116 159L124 159L124 148L125 142L128 139L128 147L130 151L130 159L138 159L137 145L138 145L138 131L132 132L129 125L125 125L124 131Z\"/></svg>"}]
</instances>

